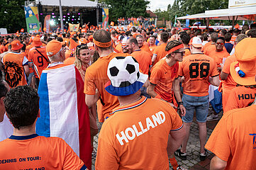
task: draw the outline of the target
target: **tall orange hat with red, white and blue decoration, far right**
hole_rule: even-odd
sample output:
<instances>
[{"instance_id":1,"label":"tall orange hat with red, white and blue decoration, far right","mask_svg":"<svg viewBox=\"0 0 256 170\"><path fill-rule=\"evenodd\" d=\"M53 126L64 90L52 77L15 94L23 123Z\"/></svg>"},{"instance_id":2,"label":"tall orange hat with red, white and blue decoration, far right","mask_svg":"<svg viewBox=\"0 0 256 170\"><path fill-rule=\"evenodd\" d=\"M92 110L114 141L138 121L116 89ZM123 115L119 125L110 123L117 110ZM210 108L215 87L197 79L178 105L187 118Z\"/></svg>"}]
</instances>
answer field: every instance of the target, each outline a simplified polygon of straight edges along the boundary
<instances>
[{"instance_id":1,"label":"tall orange hat with red, white and blue decoration, far right","mask_svg":"<svg viewBox=\"0 0 256 170\"><path fill-rule=\"evenodd\" d=\"M235 46L238 62L230 64L230 74L234 81L243 86L256 85L256 38L245 38Z\"/></svg>"}]
</instances>

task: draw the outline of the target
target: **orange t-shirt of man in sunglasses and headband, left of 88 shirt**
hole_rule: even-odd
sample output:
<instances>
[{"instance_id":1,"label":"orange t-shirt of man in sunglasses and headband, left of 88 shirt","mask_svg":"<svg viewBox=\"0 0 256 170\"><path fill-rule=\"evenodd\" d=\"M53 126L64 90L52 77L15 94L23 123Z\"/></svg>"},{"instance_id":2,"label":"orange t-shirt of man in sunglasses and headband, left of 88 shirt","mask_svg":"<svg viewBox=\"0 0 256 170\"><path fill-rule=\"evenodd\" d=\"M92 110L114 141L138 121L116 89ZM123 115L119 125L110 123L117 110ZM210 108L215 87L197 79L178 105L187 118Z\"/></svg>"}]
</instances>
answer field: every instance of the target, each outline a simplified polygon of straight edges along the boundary
<instances>
[{"instance_id":1,"label":"orange t-shirt of man in sunglasses and headband, left of 88 shirt","mask_svg":"<svg viewBox=\"0 0 256 170\"><path fill-rule=\"evenodd\" d=\"M165 60L160 60L151 69L150 83L154 91L165 101L172 100L172 82L178 77L179 62L170 67Z\"/></svg>"}]
</instances>

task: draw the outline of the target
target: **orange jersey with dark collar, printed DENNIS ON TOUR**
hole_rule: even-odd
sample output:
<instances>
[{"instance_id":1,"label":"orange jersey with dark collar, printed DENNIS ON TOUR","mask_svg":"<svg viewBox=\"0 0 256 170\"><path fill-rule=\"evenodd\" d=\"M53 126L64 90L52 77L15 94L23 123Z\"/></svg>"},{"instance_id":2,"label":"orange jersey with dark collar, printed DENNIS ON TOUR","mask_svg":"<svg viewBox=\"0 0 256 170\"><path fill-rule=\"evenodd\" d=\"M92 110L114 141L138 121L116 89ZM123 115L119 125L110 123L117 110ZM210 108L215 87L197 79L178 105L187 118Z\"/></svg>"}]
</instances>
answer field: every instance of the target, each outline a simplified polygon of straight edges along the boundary
<instances>
[{"instance_id":1,"label":"orange jersey with dark collar, printed DENNIS ON TOUR","mask_svg":"<svg viewBox=\"0 0 256 170\"><path fill-rule=\"evenodd\" d=\"M59 137L11 136L0 147L0 169L87 169Z\"/></svg>"}]
</instances>

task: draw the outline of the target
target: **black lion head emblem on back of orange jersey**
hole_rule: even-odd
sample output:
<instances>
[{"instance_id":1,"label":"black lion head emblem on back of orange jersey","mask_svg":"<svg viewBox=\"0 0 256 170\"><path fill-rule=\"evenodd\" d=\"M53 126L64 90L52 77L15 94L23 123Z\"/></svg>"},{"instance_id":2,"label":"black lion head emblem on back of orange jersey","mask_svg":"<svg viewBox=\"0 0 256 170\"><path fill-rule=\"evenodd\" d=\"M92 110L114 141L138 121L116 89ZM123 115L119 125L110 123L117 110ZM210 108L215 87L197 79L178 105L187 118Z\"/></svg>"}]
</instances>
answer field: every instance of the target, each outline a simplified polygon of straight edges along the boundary
<instances>
[{"instance_id":1,"label":"black lion head emblem on back of orange jersey","mask_svg":"<svg viewBox=\"0 0 256 170\"><path fill-rule=\"evenodd\" d=\"M6 82L11 88L18 86L22 78L22 69L16 62L4 62L4 73Z\"/></svg>"}]
</instances>

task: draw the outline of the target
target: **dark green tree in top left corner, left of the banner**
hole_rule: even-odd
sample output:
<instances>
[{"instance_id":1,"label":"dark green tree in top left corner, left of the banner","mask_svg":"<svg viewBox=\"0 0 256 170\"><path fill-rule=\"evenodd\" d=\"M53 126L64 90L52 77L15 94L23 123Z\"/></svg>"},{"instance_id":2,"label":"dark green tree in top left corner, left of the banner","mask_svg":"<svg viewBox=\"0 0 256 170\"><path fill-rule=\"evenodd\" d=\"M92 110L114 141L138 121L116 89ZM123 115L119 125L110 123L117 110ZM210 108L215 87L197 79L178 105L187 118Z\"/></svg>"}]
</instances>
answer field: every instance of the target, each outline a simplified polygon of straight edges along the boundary
<instances>
[{"instance_id":1,"label":"dark green tree in top left corner, left of the banner","mask_svg":"<svg viewBox=\"0 0 256 170\"><path fill-rule=\"evenodd\" d=\"M0 28L7 28L8 33L26 29L24 5L26 0L0 0Z\"/></svg>"}]
</instances>

